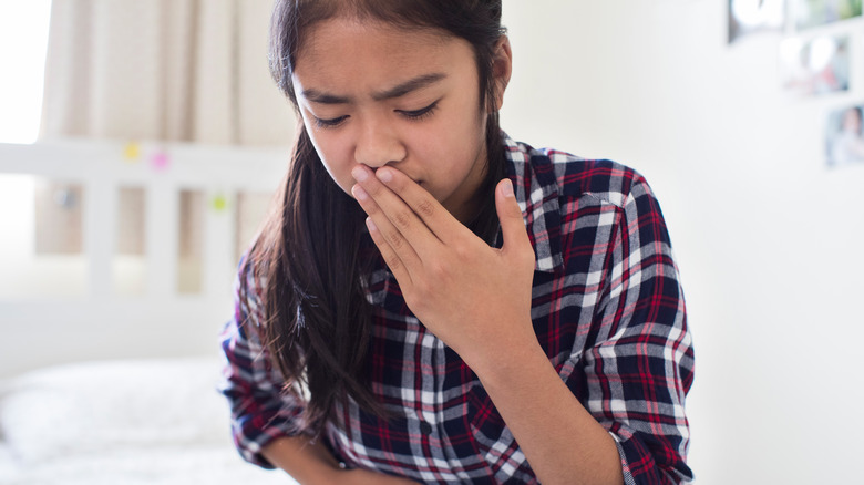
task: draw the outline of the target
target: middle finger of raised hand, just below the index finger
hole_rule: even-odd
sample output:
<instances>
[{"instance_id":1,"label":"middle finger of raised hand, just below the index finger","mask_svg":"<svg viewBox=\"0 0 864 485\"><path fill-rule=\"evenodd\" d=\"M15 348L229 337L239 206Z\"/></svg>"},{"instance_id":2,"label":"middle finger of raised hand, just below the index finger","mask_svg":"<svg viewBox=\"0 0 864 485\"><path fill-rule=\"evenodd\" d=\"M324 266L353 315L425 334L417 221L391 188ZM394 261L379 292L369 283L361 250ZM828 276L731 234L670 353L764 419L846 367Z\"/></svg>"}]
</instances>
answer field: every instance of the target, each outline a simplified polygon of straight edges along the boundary
<instances>
[{"instance_id":1,"label":"middle finger of raised hand, just below the index finger","mask_svg":"<svg viewBox=\"0 0 864 485\"><path fill-rule=\"evenodd\" d=\"M380 168L379 168L380 171ZM401 198L385 186L377 177L372 176L372 171L363 165L358 165L352 171L358 185L360 185L369 198L373 200L381 214L383 214L390 224L387 224L380 217L372 216L376 225L381 229L384 236L390 236L390 227L395 228L402 237L414 248L421 258L434 257L436 245L439 245L435 235L433 235L423 220L414 210ZM362 204L361 204L362 205ZM399 250L398 247L394 249Z\"/></svg>"}]
</instances>

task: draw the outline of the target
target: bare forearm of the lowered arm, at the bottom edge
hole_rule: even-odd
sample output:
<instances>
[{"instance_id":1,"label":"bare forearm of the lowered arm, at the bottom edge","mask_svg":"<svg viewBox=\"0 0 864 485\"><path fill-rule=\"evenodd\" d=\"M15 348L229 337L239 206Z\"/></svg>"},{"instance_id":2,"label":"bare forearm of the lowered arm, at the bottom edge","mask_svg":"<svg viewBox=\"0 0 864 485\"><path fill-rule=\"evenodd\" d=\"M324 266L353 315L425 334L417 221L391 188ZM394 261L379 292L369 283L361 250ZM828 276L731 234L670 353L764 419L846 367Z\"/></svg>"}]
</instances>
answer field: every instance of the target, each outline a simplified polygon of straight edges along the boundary
<instances>
[{"instance_id":1,"label":"bare forearm of the lowered arm, at the bottom edge","mask_svg":"<svg viewBox=\"0 0 864 485\"><path fill-rule=\"evenodd\" d=\"M335 475L341 471L323 443L311 443L308 436L278 437L261 454L302 485L335 483Z\"/></svg>"}]
</instances>

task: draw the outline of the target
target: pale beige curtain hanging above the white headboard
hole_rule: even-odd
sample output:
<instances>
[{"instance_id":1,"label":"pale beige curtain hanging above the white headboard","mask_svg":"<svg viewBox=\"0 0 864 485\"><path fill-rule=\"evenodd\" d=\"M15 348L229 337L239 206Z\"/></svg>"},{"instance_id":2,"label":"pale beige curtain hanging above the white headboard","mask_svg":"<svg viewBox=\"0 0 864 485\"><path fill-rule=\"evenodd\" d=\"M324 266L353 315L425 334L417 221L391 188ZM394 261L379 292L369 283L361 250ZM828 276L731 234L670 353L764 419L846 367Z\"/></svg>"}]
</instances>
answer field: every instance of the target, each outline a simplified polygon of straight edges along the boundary
<instances>
[{"instance_id":1,"label":"pale beige curtain hanging above the white headboard","mask_svg":"<svg viewBox=\"0 0 864 485\"><path fill-rule=\"evenodd\" d=\"M42 138L285 145L272 0L54 0Z\"/></svg>"}]
</instances>

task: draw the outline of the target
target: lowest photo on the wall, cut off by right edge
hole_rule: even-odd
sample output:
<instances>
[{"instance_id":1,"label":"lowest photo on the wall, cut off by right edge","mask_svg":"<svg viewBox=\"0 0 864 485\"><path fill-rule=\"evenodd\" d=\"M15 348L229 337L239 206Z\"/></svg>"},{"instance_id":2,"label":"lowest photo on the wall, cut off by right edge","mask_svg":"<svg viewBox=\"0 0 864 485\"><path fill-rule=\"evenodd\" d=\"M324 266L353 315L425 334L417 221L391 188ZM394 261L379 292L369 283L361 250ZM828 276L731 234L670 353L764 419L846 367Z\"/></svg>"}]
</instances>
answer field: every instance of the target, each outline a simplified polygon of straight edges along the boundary
<instances>
[{"instance_id":1,"label":"lowest photo on the wall, cut off by right edge","mask_svg":"<svg viewBox=\"0 0 864 485\"><path fill-rule=\"evenodd\" d=\"M864 105L847 106L829 114L825 130L825 154L830 167L864 165Z\"/></svg>"}]
</instances>

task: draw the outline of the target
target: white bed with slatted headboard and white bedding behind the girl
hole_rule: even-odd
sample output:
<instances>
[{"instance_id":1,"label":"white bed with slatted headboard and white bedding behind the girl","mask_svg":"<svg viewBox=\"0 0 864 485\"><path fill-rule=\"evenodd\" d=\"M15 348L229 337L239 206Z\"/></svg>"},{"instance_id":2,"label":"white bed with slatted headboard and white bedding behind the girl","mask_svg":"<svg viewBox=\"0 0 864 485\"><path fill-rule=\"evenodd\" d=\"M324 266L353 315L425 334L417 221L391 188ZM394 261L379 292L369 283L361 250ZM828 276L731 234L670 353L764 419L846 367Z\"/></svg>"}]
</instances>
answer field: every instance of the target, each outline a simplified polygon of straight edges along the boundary
<instances>
[{"instance_id":1,"label":"white bed with slatted headboard and white bedding behind the girl","mask_svg":"<svg viewBox=\"0 0 864 485\"><path fill-rule=\"evenodd\" d=\"M0 144L0 177L12 187L32 175L84 192L81 252L42 257L14 252L13 236L32 229L13 234L9 221L25 218L28 200L0 190L0 484L292 484L240 458L216 390L236 265L232 204L239 192L271 192L287 149L142 143L130 161L126 148ZM153 153L171 164L154 165ZM146 193L146 278L135 295L117 292L112 266L117 189L130 185ZM224 194L228 209L204 210L200 289L181 295L178 193L189 188ZM24 242L19 250L33 246ZM63 279L74 291L51 287Z\"/></svg>"}]
</instances>

